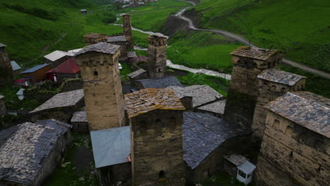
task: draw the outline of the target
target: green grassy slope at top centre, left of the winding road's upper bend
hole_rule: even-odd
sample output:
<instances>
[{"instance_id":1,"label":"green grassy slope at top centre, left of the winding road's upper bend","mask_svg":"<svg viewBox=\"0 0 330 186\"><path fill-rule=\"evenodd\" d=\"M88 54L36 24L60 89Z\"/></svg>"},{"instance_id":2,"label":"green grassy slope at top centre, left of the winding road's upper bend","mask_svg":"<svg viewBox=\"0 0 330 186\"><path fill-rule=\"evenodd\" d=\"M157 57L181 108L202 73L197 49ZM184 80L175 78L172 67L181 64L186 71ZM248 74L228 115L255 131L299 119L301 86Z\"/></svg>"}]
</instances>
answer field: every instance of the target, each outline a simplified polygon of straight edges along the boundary
<instances>
[{"instance_id":1,"label":"green grassy slope at top centre, left of the winding road's upper bend","mask_svg":"<svg viewBox=\"0 0 330 186\"><path fill-rule=\"evenodd\" d=\"M176 0L160 0L139 7L125 8L122 12L130 13L133 27L157 32L166 18L188 5ZM133 10L135 13L131 12Z\"/></svg>"}]
</instances>

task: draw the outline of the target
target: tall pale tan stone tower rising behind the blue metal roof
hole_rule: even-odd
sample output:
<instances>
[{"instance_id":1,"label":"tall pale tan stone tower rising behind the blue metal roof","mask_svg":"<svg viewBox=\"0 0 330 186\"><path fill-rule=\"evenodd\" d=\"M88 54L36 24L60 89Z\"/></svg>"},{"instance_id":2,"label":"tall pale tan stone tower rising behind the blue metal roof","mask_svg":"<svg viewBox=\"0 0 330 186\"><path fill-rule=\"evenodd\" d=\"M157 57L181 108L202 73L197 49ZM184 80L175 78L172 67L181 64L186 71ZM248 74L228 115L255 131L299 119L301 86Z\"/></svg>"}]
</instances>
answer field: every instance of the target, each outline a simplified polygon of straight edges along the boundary
<instances>
[{"instance_id":1,"label":"tall pale tan stone tower rising behind the blue metal roof","mask_svg":"<svg viewBox=\"0 0 330 186\"><path fill-rule=\"evenodd\" d=\"M115 128L124 124L119 49L118 45L99 42L85 46L76 54L84 82L90 130Z\"/></svg>"}]
</instances>

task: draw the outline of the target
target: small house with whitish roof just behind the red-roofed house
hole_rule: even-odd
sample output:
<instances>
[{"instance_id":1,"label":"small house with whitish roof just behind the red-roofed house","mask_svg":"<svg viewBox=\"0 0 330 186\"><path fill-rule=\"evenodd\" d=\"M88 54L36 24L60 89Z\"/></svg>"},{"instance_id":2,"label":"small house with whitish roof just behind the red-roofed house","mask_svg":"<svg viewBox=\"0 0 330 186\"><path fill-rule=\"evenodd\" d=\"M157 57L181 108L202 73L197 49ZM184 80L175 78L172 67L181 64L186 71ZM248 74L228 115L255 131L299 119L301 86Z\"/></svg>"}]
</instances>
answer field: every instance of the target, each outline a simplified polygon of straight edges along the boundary
<instances>
[{"instance_id":1,"label":"small house with whitish roof just behind the red-roofed house","mask_svg":"<svg viewBox=\"0 0 330 186\"><path fill-rule=\"evenodd\" d=\"M74 56L73 52L68 51L53 51L44 56L44 62L51 64L51 68L56 68L61 63L66 61L67 58Z\"/></svg>"}]
</instances>

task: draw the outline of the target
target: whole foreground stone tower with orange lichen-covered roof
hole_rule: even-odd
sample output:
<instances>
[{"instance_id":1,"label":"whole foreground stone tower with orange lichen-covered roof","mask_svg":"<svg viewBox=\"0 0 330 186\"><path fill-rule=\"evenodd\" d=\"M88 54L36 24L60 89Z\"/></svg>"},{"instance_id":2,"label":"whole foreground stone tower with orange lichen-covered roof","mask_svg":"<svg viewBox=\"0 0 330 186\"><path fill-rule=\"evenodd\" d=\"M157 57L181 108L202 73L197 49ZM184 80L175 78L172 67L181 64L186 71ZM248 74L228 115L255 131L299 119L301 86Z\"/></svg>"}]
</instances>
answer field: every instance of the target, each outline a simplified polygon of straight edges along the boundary
<instances>
[{"instance_id":1,"label":"whole foreground stone tower with orange lichen-covered roof","mask_svg":"<svg viewBox=\"0 0 330 186\"><path fill-rule=\"evenodd\" d=\"M183 111L171 89L142 89L125 95L131 128L132 185L185 183Z\"/></svg>"}]
</instances>

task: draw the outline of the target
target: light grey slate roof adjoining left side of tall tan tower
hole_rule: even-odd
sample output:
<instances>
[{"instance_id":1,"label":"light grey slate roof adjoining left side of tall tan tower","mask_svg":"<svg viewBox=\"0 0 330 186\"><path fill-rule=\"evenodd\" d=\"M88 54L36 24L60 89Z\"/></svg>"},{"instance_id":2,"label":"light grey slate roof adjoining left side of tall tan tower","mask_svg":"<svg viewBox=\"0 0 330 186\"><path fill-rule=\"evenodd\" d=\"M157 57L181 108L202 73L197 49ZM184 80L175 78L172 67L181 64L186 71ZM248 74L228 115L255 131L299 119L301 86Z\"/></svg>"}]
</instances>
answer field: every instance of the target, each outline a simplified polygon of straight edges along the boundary
<instances>
[{"instance_id":1,"label":"light grey slate roof adjoining left side of tall tan tower","mask_svg":"<svg viewBox=\"0 0 330 186\"><path fill-rule=\"evenodd\" d=\"M31 111L30 113L34 113L37 111L43 111L47 109L54 109L66 106L75 106L84 99L84 91L83 89L76 89L70 92L63 92L56 94L51 99L47 100L41 106L38 106L35 110Z\"/></svg>"}]
</instances>

